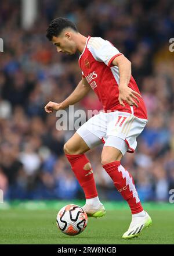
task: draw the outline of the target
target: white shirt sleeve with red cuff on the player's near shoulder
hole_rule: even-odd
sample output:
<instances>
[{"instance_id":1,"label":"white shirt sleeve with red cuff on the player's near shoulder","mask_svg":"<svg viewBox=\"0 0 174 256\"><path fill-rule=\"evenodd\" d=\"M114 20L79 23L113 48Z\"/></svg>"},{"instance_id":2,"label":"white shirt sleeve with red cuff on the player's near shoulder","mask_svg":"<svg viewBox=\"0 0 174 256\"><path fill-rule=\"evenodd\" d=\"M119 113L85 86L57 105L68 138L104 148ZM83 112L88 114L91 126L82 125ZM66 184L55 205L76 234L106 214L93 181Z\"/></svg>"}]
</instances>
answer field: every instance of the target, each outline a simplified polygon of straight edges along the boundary
<instances>
[{"instance_id":1,"label":"white shirt sleeve with red cuff on the player's near shoulder","mask_svg":"<svg viewBox=\"0 0 174 256\"><path fill-rule=\"evenodd\" d=\"M111 42L101 37L91 37L88 42L88 49L96 61L104 62L107 66L112 65L115 57L123 55Z\"/></svg>"}]
</instances>

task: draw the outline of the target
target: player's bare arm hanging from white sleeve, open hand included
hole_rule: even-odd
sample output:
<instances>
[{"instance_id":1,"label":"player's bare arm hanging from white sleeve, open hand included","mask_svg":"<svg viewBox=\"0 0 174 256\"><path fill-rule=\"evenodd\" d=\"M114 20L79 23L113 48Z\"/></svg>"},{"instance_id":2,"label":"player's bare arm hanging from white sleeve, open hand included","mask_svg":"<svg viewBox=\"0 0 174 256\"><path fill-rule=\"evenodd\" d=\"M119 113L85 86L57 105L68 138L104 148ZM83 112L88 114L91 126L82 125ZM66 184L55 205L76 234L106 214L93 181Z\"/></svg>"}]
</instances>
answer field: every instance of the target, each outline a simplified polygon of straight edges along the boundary
<instances>
[{"instance_id":1,"label":"player's bare arm hanging from white sleeve, open hand included","mask_svg":"<svg viewBox=\"0 0 174 256\"><path fill-rule=\"evenodd\" d=\"M130 106L138 106L136 101L140 101L137 97L142 96L128 87L131 79L131 62L124 55L120 55L113 60L112 64L119 69L119 103L125 106L124 101L126 101Z\"/></svg>"}]
</instances>

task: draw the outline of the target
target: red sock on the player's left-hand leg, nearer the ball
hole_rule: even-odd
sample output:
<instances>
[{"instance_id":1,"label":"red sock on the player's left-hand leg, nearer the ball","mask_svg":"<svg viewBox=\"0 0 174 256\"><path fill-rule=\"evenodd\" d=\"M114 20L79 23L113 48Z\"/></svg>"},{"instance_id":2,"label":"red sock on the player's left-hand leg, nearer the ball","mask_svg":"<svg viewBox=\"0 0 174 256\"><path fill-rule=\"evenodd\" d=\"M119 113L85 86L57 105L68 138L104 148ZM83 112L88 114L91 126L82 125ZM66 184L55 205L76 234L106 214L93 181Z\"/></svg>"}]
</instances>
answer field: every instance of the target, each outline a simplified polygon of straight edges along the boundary
<instances>
[{"instance_id":1,"label":"red sock on the player's left-hand leg, nearer the ball","mask_svg":"<svg viewBox=\"0 0 174 256\"><path fill-rule=\"evenodd\" d=\"M86 163L90 163L88 158L84 154L80 155L68 155L66 154L68 161L71 164L71 168L78 179L79 184L84 190L86 199L97 197L97 189L95 179L93 177L92 168L84 170Z\"/></svg>"}]
</instances>

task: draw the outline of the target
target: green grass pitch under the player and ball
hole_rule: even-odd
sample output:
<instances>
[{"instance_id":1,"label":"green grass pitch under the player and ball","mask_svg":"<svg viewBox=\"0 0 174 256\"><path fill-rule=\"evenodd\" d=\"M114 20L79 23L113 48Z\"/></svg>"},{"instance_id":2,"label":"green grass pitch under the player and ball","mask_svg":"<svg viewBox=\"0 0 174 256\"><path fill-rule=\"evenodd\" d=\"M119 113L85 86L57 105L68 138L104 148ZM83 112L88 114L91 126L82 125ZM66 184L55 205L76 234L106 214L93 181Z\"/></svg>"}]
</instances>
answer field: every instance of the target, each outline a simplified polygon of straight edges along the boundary
<instances>
[{"instance_id":1,"label":"green grass pitch under the player and ball","mask_svg":"<svg viewBox=\"0 0 174 256\"><path fill-rule=\"evenodd\" d=\"M139 238L121 238L131 221L125 204L106 204L106 216L88 218L88 226L78 236L66 236L56 225L61 202L44 207L42 202L21 203L18 207L0 207L0 244L174 244L174 205L146 205L153 225ZM82 205L82 204L80 204ZM167 207L166 207L167 206Z\"/></svg>"}]
</instances>

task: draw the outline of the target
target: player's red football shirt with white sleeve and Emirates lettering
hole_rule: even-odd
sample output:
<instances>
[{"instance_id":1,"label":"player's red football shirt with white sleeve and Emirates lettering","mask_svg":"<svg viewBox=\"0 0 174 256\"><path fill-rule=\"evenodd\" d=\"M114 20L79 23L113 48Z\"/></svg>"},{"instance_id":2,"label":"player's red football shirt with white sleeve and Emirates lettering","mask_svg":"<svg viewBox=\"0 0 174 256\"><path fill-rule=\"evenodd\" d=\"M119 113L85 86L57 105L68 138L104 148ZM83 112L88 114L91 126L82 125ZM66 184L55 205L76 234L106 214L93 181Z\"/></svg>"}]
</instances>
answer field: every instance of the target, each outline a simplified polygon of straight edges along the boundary
<instances>
[{"instance_id":1,"label":"player's red football shirt with white sleeve and Emirates lettering","mask_svg":"<svg viewBox=\"0 0 174 256\"><path fill-rule=\"evenodd\" d=\"M138 118L147 119L146 106L143 98L139 98L139 107L121 106L118 101L119 96L119 69L113 66L115 57L123 55L109 41L101 37L88 37L84 51L79 56L79 67L82 70L82 76L86 78L93 91L102 102L103 110L122 111L132 113ZM128 84L132 90L140 93L136 81L131 76Z\"/></svg>"}]
</instances>

